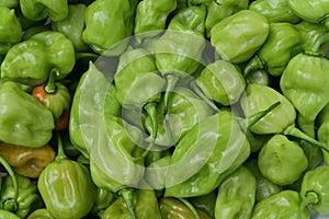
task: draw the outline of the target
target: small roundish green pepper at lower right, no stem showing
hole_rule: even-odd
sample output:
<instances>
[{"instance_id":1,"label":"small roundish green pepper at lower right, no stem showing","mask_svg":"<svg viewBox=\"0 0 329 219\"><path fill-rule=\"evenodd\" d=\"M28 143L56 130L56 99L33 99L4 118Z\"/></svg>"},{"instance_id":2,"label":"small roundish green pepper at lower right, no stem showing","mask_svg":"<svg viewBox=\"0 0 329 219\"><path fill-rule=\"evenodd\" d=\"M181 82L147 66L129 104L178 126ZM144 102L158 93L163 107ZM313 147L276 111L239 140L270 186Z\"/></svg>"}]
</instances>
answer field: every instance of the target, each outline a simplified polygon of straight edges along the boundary
<instances>
[{"instance_id":1,"label":"small roundish green pepper at lower right, no stem showing","mask_svg":"<svg viewBox=\"0 0 329 219\"><path fill-rule=\"evenodd\" d=\"M270 138L258 155L258 166L262 175L281 186L297 181L307 164L307 158L299 145L284 135Z\"/></svg>"}]
</instances>

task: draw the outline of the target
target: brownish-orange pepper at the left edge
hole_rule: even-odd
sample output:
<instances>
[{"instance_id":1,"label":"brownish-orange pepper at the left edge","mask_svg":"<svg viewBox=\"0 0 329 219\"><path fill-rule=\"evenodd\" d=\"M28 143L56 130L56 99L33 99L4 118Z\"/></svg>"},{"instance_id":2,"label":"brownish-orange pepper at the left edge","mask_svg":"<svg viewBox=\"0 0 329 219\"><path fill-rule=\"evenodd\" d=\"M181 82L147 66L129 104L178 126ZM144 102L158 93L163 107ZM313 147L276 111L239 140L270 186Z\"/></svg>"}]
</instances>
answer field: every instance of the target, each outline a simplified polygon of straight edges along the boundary
<instances>
[{"instance_id":1,"label":"brownish-orange pepper at the left edge","mask_svg":"<svg viewBox=\"0 0 329 219\"><path fill-rule=\"evenodd\" d=\"M41 172L54 161L56 152L50 145L27 148L11 143L0 143L0 155L22 176L37 178Z\"/></svg>"}]
</instances>

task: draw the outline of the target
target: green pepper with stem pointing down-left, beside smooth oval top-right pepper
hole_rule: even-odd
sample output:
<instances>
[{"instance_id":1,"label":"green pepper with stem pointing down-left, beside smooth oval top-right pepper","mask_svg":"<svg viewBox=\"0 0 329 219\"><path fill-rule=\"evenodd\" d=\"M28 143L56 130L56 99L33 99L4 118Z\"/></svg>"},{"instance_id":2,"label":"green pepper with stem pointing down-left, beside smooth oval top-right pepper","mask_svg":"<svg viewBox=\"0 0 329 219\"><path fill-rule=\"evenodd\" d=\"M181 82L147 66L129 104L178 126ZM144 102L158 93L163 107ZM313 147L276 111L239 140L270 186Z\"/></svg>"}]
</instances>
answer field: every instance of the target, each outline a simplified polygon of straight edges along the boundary
<instances>
[{"instance_id":1,"label":"green pepper with stem pointing down-left, beside smooth oval top-right pepper","mask_svg":"<svg viewBox=\"0 0 329 219\"><path fill-rule=\"evenodd\" d=\"M300 51L296 49L298 44L299 32L293 24L270 23L268 39L245 67L245 77L257 69L266 69L274 77L281 76L290 59Z\"/></svg>"}]
</instances>

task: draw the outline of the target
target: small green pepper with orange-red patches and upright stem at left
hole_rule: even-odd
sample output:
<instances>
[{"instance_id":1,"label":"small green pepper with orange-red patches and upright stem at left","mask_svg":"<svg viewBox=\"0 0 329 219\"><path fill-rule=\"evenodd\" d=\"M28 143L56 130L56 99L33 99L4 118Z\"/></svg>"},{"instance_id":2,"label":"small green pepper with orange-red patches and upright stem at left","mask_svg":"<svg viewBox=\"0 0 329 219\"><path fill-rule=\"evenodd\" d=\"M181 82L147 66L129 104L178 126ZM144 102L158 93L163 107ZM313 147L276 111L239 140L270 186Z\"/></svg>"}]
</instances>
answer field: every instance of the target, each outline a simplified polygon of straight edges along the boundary
<instances>
[{"instance_id":1,"label":"small green pepper with orange-red patches and upright stem at left","mask_svg":"<svg viewBox=\"0 0 329 219\"><path fill-rule=\"evenodd\" d=\"M48 81L35 87L32 95L53 113L55 130L65 130L69 125L71 96L64 84L55 82L55 78L56 72L52 71Z\"/></svg>"}]
</instances>

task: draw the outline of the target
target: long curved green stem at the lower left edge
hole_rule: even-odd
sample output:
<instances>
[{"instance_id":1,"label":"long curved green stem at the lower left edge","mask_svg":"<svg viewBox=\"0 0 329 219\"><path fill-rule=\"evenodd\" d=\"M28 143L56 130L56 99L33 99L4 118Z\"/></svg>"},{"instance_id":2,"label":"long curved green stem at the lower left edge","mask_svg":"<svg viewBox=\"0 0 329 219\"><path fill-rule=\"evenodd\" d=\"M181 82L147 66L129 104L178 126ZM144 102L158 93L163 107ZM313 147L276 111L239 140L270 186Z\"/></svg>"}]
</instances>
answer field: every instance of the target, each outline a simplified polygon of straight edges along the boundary
<instances>
[{"instance_id":1,"label":"long curved green stem at the lower left edge","mask_svg":"<svg viewBox=\"0 0 329 219\"><path fill-rule=\"evenodd\" d=\"M10 177L12 180L12 183L13 183L13 187L14 187L13 197L7 199L5 201L3 201L2 209L14 212L14 211L18 210L18 197L19 197L18 178L15 176L15 173L13 172L13 170L11 169L9 163L7 162L7 160L4 158L2 158L1 155L0 155L0 163L2 164L2 166L5 169L5 171L10 175Z\"/></svg>"}]
</instances>

